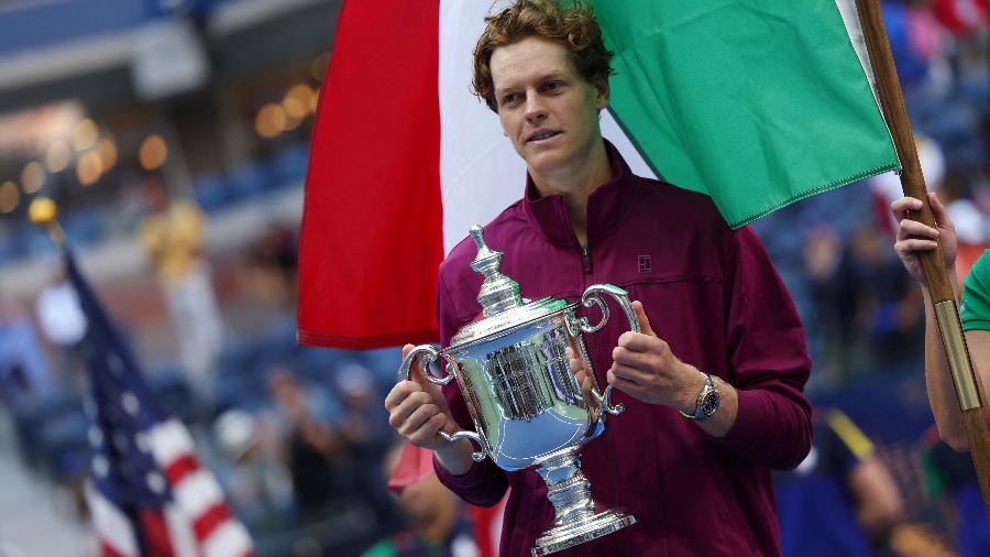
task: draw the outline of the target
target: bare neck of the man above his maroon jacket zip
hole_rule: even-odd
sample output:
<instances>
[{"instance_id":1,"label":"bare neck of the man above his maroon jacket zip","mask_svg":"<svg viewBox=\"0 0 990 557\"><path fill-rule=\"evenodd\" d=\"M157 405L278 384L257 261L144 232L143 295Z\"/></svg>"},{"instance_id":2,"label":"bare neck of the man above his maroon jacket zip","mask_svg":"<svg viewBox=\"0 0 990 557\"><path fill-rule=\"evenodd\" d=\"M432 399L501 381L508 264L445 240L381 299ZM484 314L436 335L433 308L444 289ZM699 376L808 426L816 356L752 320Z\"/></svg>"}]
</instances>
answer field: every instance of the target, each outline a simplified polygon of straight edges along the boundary
<instances>
[{"instance_id":1,"label":"bare neck of the man above his maroon jacket zip","mask_svg":"<svg viewBox=\"0 0 990 557\"><path fill-rule=\"evenodd\" d=\"M612 179L612 163L604 140L594 143L585 161L586 164L581 167L553 173L529 170L540 197L559 195L563 198L571 228L582 245L587 242L587 198L598 186Z\"/></svg>"}]
</instances>

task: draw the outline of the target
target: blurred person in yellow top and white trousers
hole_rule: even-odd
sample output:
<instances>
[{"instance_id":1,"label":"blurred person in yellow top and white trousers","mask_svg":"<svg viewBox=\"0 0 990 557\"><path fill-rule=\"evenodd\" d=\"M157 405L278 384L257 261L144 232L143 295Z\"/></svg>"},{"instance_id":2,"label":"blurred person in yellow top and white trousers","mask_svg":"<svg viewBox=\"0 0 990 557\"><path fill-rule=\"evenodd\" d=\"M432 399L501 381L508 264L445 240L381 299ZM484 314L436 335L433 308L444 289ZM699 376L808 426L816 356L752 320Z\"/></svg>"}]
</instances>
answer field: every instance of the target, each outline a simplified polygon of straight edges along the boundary
<instances>
[{"instance_id":1,"label":"blurred person in yellow top and white trousers","mask_svg":"<svg viewBox=\"0 0 990 557\"><path fill-rule=\"evenodd\" d=\"M145 184L145 198L150 214L139 238L165 295L189 384L209 400L209 373L222 348L223 325L202 254L206 217L191 199L169 200L165 183L154 174Z\"/></svg>"}]
</instances>

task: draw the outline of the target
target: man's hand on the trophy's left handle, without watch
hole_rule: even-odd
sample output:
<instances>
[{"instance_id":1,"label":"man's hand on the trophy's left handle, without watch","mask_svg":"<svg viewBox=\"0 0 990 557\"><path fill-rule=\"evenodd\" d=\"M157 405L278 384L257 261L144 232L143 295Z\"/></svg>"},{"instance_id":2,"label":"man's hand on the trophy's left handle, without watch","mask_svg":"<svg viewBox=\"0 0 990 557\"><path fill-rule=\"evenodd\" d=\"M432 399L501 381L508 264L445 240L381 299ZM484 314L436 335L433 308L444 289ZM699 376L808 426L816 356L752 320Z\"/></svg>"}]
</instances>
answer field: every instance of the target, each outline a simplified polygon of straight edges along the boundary
<instances>
[{"instance_id":1,"label":"man's hand on the trophy's left handle, without watch","mask_svg":"<svg viewBox=\"0 0 990 557\"><path fill-rule=\"evenodd\" d=\"M404 360L413 348L413 345L403 347ZM443 393L422 375L419 362L414 362L410 376L410 381L400 381L385 397L388 424L417 447L431 450L449 447L450 441L440 432L451 434L457 426Z\"/></svg>"}]
</instances>

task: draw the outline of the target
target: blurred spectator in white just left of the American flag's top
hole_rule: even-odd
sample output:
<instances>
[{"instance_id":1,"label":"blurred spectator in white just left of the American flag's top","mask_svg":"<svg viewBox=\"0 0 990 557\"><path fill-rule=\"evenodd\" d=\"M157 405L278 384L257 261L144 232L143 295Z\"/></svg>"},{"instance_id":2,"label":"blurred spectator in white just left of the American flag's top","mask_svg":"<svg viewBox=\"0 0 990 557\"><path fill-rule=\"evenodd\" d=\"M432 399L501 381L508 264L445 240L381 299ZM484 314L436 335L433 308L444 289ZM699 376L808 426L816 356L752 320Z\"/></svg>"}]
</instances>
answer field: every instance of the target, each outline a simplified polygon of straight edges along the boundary
<instances>
[{"instance_id":1,"label":"blurred spectator in white just left of the American flag's top","mask_svg":"<svg viewBox=\"0 0 990 557\"><path fill-rule=\"evenodd\" d=\"M80 386L82 374L75 371L81 363L79 349L82 336L86 335L86 316L79 307L76 290L66 281L65 271L61 265L53 274L52 281L35 298L34 313L45 338L55 346L61 356L62 383Z\"/></svg>"}]
</instances>

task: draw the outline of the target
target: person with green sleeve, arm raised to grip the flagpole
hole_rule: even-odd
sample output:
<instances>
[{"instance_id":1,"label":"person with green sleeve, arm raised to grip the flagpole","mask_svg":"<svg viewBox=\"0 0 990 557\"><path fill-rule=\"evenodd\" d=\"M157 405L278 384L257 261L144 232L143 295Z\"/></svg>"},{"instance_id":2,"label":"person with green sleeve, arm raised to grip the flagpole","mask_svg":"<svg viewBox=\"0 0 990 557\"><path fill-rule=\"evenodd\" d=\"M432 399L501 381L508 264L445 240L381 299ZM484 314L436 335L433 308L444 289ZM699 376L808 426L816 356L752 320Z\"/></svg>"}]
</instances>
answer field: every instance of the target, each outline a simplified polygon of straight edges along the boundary
<instances>
[{"instance_id":1,"label":"person with green sleeve, arm raised to grip the flagpole","mask_svg":"<svg viewBox=\"0 0 990 557\"><path fill-rule=\"evenodd\" d=\"M936 228L909 218L909 211L922 208L920 199L902 197L891 204L891 211L899 221L894 251L911 276L921 285L925 298L925 384L928 389L932 412L935 414L935 423L938 425L938 435L952 448L967 450L969 438L963 425L963 412L959 409L945 347L942 345L938 324L935 321L932 295L917 259L919 252L934 250L936 241L941 239L945 254L945 272L952 282L953 292L958 297L956 228L935 194L928 194L928 201L935 215ZM986 252L974 263L966 277L959 314L977 380L982 384L983 393L990 392L987 390L987 370L990 369L990 255Z\"/></svg>"}]
</instances>

